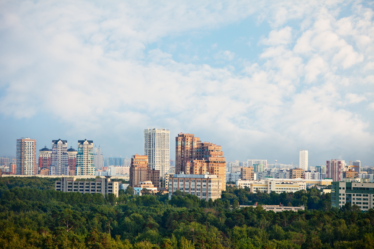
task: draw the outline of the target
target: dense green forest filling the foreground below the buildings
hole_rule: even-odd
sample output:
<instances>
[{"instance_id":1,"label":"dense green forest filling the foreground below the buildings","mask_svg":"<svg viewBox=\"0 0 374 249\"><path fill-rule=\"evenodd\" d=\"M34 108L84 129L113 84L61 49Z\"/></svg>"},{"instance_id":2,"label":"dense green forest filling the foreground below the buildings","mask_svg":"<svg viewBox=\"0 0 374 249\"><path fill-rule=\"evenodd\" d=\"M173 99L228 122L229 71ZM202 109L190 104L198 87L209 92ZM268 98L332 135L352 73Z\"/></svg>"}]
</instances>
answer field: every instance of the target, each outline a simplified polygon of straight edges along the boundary
<instances>
[{"instance_id":1,"label":"dense green forest filling the foreground below the buildings","mask_svg":"<svg viewBox=\"0 0 374 249\"><path fill-rule=\"evenodd\" d=\"M316 189L249 193L229 187L209 202L176 192L63 193L55 179L0 178L0 248L301 249L374 248L374 210L329 205ZM252 205L253 207L240 207ZM304 205L264 211L261 204Z\"/></svg>"}]
</instances>

